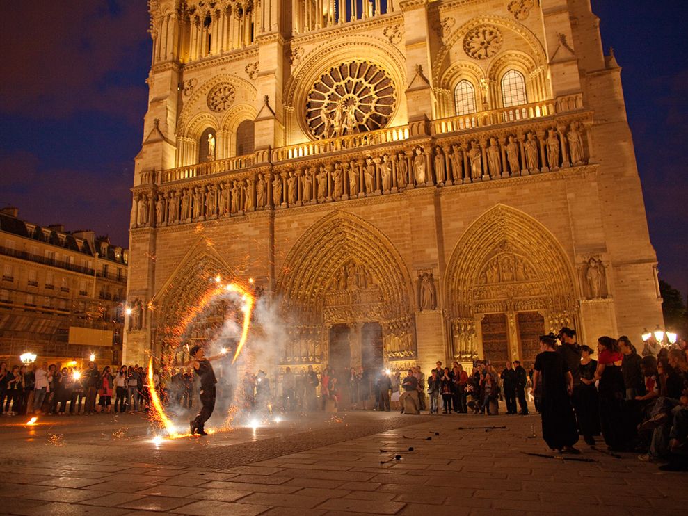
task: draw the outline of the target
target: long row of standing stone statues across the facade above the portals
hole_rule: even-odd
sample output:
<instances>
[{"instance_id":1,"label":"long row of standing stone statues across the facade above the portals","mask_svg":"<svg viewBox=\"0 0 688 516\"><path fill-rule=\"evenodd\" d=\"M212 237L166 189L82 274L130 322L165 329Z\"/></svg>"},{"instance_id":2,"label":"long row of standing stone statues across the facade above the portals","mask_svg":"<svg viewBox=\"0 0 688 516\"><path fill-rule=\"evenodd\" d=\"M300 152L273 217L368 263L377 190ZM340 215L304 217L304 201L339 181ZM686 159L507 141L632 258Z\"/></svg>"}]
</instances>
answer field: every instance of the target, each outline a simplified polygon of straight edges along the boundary
<instances>
[{"instance_id":1,"label":"long row of standing stone statues across the facade above the portals","mask_svg":"<svg viewBox=\"0 0 688 516\"><path fill-rule=\"evenodd\" d=\"M185 223L273 207L559 170L585 162L582 141L580 124L572 122L568 129L550 127L538 134L531 131L522 136L492 136L456 145L419 146L287 172L142 193L134 203L136 225Z\"/></svg>"}]
</instances>

